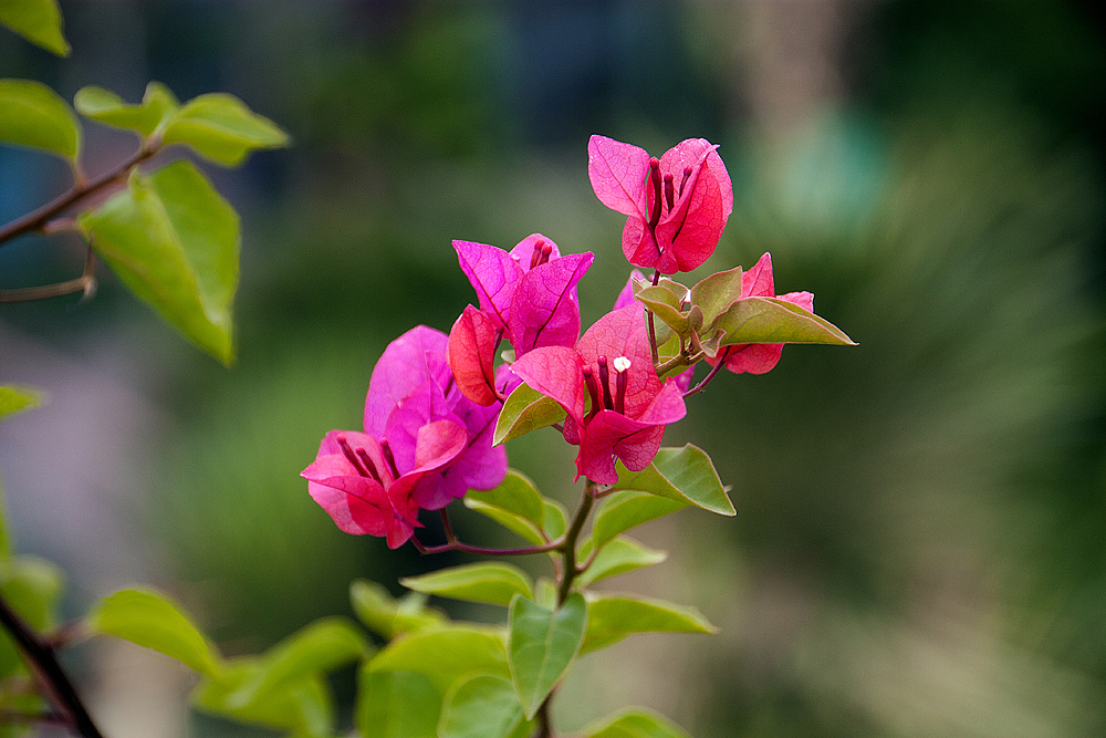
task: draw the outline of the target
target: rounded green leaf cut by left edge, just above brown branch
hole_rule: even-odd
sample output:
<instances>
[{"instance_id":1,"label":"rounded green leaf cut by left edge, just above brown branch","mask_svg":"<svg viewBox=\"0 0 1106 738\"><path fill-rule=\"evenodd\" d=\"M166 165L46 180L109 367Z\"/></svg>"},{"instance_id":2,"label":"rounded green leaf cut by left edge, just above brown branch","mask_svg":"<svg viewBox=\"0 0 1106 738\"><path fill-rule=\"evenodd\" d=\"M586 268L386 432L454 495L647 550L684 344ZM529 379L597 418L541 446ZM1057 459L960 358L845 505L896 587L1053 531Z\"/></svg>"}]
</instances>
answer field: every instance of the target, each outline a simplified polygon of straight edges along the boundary
<instances>
[{"instance_id":1,"label":"rounded green leaf cut by left edge, just above brown branch","mask_svg":"<svg viewBox=\"0 0 1106 738\"><path fill-rule=\"evenodd\" d=\"M0 80L0 141L41 148L72 165L81 126L69 103L41 82Z\"/></svg>"}]
</instances>

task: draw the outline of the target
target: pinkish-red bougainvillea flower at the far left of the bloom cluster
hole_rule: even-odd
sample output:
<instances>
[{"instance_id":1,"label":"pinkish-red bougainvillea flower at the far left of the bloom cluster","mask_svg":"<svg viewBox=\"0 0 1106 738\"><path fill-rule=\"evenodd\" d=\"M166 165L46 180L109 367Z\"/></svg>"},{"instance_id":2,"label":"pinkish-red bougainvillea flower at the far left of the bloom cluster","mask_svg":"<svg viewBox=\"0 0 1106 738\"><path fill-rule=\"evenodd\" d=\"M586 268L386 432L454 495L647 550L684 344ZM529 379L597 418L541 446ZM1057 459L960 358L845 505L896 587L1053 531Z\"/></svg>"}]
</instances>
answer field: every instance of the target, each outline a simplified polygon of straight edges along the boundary
<instances>
[{"instance_id":1,"label":"pinkish-red bougainvillea flower at the far left of the bloom cluster","mask_svg":"<svg viewBox=\"0 0 1106 738\"><path fill-rule=\"evenodd\" d=\"M465 429L448 422L420 430L416 465L404 475L387 445L376 438L354 430L330 432L301 475L307 492L340 530L385 537L388 548L401 545L417 524L413 491L460 456L468 441Z\"/></svg>"}]
</instances>

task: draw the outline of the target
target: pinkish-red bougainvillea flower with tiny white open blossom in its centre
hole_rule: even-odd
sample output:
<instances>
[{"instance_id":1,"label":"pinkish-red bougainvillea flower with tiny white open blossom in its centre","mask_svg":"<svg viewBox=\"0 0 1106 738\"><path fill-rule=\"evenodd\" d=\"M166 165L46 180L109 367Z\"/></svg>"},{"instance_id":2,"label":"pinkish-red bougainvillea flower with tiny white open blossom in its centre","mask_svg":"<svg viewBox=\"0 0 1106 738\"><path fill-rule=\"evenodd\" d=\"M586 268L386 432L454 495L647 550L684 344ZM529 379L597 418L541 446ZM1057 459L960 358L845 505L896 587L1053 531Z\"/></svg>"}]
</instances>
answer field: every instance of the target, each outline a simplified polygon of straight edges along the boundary
<instances>
[{"instance_id":1,"label":"pinkish-red bougainvillea flower with tiny white open blossom in its centre","mask_svg":"<svg viewBox=\"0 0 1106 738\"><path fill-rule=\"evenodd\" d=\"M639 303L601 318L574 347L534 349L511 368L564 407L564 437L580 446L577 478L614 484L615 457L632 470L644 469L660 448L665 426L686 414L676 382L661 382L654 370Z\"/></svg>"}]
</instances>

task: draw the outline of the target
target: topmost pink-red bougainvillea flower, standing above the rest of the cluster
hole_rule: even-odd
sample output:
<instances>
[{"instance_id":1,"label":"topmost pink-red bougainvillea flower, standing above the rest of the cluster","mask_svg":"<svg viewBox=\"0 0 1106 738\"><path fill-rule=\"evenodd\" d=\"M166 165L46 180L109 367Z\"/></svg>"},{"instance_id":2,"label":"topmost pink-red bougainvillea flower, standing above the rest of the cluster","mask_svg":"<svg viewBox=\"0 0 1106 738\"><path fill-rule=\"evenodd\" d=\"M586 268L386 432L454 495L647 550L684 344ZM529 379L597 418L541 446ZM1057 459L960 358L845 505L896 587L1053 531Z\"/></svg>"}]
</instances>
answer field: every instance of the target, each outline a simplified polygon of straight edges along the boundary
<instances>
[{"instance_id":1,"label":"topmost pink-red bougainvillea flower, standing above the rest of the cluster","mask_svg":"<svg viewBox=\"0 0 1106 738\"><path fill-rule=\"evenodd\" d=\"M606 136L587 142L592 189L628 216L623 252L632 264L675 274L713 253L733 212L733 185L714 149L703 138L688 138L657 159Z\"/></svg>"}]
</instances>

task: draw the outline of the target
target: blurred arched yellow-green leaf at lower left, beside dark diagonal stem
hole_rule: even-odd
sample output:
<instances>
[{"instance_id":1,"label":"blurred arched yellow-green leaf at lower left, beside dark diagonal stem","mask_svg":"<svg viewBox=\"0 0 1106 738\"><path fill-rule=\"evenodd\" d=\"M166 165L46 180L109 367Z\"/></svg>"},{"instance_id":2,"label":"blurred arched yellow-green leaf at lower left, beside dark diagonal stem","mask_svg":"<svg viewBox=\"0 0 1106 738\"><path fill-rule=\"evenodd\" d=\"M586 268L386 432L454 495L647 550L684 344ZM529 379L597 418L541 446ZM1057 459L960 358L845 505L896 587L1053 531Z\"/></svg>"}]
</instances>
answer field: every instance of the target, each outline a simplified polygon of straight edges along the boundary
<instances>
[{"instance_id":1,"label":"blurred arched yellow-green leaf at lower left, beside dark diagonal stem","mask_svg":"<svg viewBox=\"0 0 1106 738\"><path fill-rule=\"evenodd\" d=\"M219 654L175 602L150 590L119 590L93 607L94 633L115 635L176 658L206 676L219 674Z\"/></svg>"}]
</instances>

